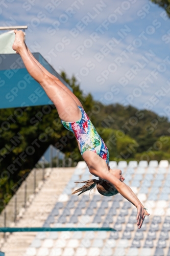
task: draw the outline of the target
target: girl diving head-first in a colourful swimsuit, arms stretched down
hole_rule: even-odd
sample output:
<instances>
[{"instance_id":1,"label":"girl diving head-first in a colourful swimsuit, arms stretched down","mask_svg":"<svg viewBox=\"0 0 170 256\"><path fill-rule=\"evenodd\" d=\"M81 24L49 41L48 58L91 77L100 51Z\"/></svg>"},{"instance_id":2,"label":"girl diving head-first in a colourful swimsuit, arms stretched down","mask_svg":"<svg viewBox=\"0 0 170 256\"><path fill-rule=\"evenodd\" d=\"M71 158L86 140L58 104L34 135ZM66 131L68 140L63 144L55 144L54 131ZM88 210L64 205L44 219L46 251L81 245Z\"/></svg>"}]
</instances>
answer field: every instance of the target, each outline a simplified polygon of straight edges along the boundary
<instances>
[{"instance_id":1,"label":"girl diving head-first in a colourful swimsuit, arms stretched down","mask_svg":"<svg viewBox=\"0 0 170 256\"><path fill-rule=\"evenodd\" d=\"M25 44L24 33L21 30L14 30L14 32L13 50L20 54L29 74L41 85L56 106L62 124L75 134L79 150L89 168L89 172L99 177L99 180L83 181L82 183L85 183L85 185L74 191L73 194L83 193L92 189L95 185L99 193L104 196L113 196L120 193L136 206L137 226L141 228L144 217L149 215L147 209L144 208L131 188L124 183L125 179L122 176L122 171L109 167L108 148L96 132L81 102L57 77L48 72L34 58Z\"/></svg>"}]
</instances>

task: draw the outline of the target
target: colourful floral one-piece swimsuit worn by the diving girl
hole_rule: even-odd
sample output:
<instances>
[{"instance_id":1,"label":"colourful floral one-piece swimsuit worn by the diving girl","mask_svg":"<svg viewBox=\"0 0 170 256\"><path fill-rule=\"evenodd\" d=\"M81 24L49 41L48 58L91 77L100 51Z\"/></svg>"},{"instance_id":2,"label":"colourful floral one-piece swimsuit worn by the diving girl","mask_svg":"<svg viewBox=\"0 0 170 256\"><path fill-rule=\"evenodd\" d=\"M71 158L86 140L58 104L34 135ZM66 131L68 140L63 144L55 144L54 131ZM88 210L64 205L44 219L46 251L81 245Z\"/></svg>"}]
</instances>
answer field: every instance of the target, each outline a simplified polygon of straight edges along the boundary
<instances>
[{"instance_id":1,"label":"colourful floral one-piece swimsuit worn by the diving girl","mask_svg":"<svg viewBox=\"0 0 170 256\"><path fill-rule=\"evenodd\" d=\"M62 124L67 130L75 134L76 139L80 143L81 155L83 155L85 151L92 151L102 157L109 165L109 151L107 146L95 130L86 112L81 106L78 107L82 112L81 119L76 122L65 122L61 120Z\"/></svg>"}]
</instances>

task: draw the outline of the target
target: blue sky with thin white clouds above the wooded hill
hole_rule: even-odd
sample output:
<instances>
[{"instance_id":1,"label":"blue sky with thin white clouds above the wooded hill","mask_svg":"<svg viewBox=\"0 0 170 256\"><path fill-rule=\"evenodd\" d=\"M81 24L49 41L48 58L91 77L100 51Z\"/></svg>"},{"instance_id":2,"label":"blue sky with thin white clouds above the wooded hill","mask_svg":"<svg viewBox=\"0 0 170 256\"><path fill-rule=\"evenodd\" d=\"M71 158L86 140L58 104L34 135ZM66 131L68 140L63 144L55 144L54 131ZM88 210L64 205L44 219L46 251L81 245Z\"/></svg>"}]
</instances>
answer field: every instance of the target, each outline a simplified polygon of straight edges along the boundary
<instances>
[{"instance_id":1,"label":"blue sky with thin white clouds above the wooded hill","mask_svg":"<svg viewBox=\"0 0 170 256\"><path fill-rule=\"evenodd\" d=\"M5 0L0 26L28 25L26 42L105 104L170 117L170 19L149 0ZM169 81L168 81L169 80Z\"/></svg>"}]
</instances>

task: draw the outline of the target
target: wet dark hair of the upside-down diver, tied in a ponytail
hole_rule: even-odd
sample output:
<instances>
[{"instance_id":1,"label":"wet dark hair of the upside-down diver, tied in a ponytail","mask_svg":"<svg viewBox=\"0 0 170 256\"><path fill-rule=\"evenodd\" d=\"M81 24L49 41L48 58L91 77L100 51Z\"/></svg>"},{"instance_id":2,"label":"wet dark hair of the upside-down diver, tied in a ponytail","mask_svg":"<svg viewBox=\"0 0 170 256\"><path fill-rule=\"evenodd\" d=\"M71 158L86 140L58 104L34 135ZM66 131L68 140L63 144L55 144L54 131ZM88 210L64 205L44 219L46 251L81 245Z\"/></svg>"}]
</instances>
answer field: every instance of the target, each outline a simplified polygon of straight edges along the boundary
<instances>
[{"instance_id":1,"label":"wet dark hair of the upside-down diver, tied in a ponytail","mask_svg":"<svg viewBox=\"0 0 170 256\"><path fill-rule=\"evenodd\" d=\"M77 190L75 190L72 195L79 193L79 195L81 195L82 193L84 193L87 190L91 190L93 189L95 186L98 189L98 192L106 197L111 197L114 196L118 193L117 189L115 189L110 183L107 183L106 181L99 179L92 179L92 180L86 180L86 181L80 181L80 182L75 182L75 183L85 183L84 186L78 188Z\"/></svg>"}]
</instances>

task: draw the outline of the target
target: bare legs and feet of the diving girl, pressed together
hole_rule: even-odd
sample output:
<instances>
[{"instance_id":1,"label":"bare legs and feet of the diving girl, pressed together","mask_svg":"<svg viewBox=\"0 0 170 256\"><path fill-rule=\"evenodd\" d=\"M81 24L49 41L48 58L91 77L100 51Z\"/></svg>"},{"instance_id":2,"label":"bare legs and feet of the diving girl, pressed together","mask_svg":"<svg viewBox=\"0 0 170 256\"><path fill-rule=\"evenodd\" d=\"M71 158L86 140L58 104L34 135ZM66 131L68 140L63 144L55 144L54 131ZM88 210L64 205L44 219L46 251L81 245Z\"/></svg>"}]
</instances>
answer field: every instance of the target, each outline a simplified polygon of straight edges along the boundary
<instances>
[{"instance_id":1,"label":"bare legs and feet of the diving girl, pressed together","mask_svg":"<svg viewBox=\"0 0 170 256\"><path fill-rule=\"evenodd\" d=\"M81 111L76 101L53 78L45 74L29 55L24 42L22 31L15 31L13 50L17 51L29 74L42 86L47 96L55 104L60 118L67 122L74 122L81 118Z\"/></svg>"}]
</instances>

